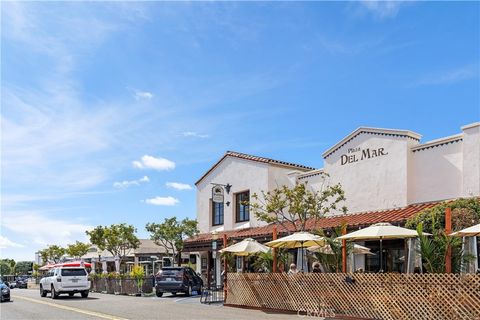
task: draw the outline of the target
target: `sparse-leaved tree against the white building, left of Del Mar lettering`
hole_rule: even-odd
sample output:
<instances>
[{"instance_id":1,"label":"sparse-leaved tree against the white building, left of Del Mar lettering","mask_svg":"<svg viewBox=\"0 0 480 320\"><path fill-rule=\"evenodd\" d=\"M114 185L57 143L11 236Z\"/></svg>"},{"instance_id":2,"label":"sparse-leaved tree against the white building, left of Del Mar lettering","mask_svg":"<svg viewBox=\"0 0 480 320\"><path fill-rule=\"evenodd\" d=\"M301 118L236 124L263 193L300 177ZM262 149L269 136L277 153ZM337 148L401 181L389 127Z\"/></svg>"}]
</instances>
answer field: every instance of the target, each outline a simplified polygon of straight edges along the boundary
<instances>
[{"instance_id":1,"label":"sparse-leaved tree against the white building, left of Del Mar lettering","mask_svg":"<svg viewBox=\"0 0 480 320\"><path fill-rule=\"evenodd\" d=\"M297 183L294 187L284 185L262 191L261 196L253 194L252 198L255 202L250 206L258 219L280 224L287 231L305 231L308 220L316 221L337 209L347 212L345 206L338 208L345 200L340 184L324 186L320 191L309 189L306 183Z\"/></svg>"}]
</instances>

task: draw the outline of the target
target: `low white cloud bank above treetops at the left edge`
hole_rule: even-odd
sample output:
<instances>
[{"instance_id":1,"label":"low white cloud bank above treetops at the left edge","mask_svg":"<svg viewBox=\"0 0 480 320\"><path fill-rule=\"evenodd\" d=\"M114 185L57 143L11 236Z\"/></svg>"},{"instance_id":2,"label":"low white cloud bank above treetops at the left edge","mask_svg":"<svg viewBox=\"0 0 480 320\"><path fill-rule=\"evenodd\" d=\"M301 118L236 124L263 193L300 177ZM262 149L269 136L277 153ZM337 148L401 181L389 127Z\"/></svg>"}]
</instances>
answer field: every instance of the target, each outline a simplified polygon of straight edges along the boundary
<instances>
[{"instance_id":1,"label":"low white cloud bank above treetops at the left edge","mask_svg":"<svg viewBox=\"0 0 480 320\"><path fill-rule=\"evenodd\" d=\"M2 217L2 228L41 248L49 244L65 246L76 240L86 241L85 231L93 227L75 222L74 219L54 218L36 211L10 211L8 216Z\"/></svg>"}]
</instances>

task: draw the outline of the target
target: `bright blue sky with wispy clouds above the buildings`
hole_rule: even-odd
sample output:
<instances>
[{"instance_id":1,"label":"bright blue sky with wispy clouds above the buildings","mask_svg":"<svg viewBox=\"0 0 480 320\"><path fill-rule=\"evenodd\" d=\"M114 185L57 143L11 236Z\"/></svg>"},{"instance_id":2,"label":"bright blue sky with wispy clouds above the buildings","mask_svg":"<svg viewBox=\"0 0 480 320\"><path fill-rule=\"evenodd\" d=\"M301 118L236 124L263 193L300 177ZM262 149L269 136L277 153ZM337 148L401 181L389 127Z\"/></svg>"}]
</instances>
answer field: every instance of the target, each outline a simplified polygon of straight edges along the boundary
<instances>
[{"instance_id":1,"label":"bright blue sky with wispy clouds above the buildings","mask_svg":"<svg viewBox=\"0 0 480 320\"><path fill-rule=\"evenodd\" d=\"M2 2L2 257L196 216L226 150L480 118L478 2ZM168 184L168 185L167 185Z\"/></svg>"}]
</instances>

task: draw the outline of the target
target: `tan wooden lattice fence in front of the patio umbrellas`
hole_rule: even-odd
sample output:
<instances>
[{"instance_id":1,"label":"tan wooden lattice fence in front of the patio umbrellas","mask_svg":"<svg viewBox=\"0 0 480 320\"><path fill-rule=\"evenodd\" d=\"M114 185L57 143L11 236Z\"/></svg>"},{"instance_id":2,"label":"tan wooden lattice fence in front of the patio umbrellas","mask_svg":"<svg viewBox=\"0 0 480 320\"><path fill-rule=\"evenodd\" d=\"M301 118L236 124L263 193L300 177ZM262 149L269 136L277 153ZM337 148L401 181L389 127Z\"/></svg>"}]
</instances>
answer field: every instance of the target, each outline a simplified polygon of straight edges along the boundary
<instances>
[{"instance_id":1,"label":"tan wooden lattice fence in front of the patio umbrellas","mask_svg":"<svg viewBox=\"0 0 480 320\"><path fill-rule=\"evenodd\" d=\"M326 317L480 320L480 275L229 273L227 279L232 306Z\"/></svg>"}]
</instances>

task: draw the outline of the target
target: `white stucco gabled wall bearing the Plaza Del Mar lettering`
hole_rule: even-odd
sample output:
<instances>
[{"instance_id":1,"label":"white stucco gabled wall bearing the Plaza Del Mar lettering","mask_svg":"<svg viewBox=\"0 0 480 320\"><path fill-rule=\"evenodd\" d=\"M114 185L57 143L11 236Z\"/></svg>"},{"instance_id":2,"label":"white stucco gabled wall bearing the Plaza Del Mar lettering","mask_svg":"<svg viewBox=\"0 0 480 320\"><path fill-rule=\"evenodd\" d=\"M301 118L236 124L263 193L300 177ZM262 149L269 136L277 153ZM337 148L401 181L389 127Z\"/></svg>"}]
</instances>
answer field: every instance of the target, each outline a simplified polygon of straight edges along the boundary
<instances>
[{"instance_id":1,"label":"white stucco gabled wall bearing the Plaza Del Mar lettering","mask_svg":"<svg viewBox=\"0 0 480 320\"><path fill-rule=\"evenodd\" d=\"M341 183L350 213L407 205L407 159L412 141L415 142L407 137L362 133L324 160L329 183ZM372 157L365 156L368 152ZM345 157L350 157L349 162L342 164Z\"/></svg>"}]
</instances>

